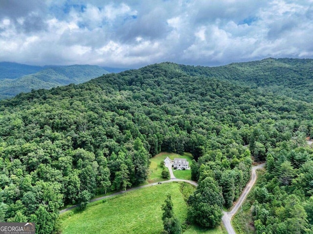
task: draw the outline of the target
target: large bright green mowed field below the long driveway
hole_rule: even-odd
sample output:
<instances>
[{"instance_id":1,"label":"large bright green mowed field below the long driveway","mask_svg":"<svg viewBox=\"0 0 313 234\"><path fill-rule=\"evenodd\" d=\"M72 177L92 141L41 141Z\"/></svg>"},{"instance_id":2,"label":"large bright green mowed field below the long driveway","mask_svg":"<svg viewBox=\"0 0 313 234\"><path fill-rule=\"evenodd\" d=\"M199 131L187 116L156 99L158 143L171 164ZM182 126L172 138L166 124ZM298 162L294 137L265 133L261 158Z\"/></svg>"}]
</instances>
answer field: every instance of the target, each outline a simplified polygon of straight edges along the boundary
<instances>
[{"instance_id":1,"label":"large bright green mowed field below the long driveway","mask_svg":"<svg viewBox=\"0 0 313 234\"><path fill-rule=\"evenodd\" d=\"M99 202L84 212L72 212L62 220L62 233L159 234L163 230L161 205L167 193L172 195L174 212L179 220L186 219L187 204L180 186L172 182L142 188Z\"/></svg>"}]
</instances>

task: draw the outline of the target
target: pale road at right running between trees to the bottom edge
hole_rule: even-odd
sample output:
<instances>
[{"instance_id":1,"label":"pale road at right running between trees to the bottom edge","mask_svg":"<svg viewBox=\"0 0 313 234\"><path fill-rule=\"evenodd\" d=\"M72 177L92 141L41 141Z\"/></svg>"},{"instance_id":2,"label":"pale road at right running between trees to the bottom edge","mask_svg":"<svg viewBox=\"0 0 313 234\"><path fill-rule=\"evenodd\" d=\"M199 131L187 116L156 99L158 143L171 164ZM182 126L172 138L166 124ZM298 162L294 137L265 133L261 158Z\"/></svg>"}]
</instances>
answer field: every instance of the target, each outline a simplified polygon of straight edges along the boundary
<instances>
[{"instance_id":1,"label":"pale road at right running between trees to the bottom edge","mask_svg":"<svg viewBox=\"0 0 313 234\"><path fill-rule=\"evenodd\" d=\"M249 194L251 188L253 187L255 181L256 181L256 170L263 168L265 163L259 164L257 166L252 167L252 175L250 181L247 183L246 188L244 189L243 193L240 195L238 200L236 201L235 205L229 212L223 211L223 217L222 222L224 224L224 227L228 234L236 234L235 230L231 226L230 220L232 217L237 213L239 207L243 204L244 200L246 199L246 196Z\"/></svg>"}]
</instances>

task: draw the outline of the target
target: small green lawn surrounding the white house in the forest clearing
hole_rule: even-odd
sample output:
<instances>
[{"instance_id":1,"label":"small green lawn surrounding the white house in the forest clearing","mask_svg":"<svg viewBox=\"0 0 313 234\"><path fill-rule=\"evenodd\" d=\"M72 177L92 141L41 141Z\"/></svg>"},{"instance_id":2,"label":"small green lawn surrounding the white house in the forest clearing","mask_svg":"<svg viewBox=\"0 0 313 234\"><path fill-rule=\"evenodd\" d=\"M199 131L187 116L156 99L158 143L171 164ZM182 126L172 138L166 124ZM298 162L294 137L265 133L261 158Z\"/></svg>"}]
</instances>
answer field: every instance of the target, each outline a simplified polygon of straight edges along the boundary
<instances>
[{"instance_id":1,"label":"small green lawn surrounding the white house in the forest clearing","mask_svg":"<svg viewBox=\"0 0 313 234\"><path fill-rule=\"evenodd\" d=\"M156 181L161 181L162 176L161 172L163 168L160 166L161 161L164 161L166 157L169 157L171 159L174 159L175 157L180 157L180 158L186 158L187 161L189 162L189 166L191 165L192 161L192 155L190 153L184 153L184 155L178 155L174 153L167 153L167 152L162 152L157 154L156 156L152 157L151 164L150 164L150 171L151 174L149 176L149 182L153 183ZM174 176L179 179L191 179L191 170L176 170L174 171L173 169Z\"/></svg>"}]
</instances>

